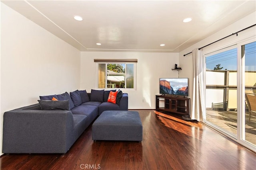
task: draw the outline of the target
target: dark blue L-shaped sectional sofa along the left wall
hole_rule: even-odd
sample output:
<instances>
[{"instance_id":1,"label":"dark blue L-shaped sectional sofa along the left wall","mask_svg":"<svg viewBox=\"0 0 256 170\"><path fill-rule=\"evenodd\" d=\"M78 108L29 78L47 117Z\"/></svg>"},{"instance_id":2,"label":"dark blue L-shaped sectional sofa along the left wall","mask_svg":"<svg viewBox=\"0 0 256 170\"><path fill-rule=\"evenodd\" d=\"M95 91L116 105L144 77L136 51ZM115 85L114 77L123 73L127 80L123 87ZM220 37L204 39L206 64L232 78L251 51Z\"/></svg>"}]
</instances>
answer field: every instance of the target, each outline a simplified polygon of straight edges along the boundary
<instances>
[{"instance_id":1,"label":"dark blue L-shaped sectional sofa along the left wall","mask_svg":"<svg viewBox=\"0 0 256 170\"><path fill-rule=\"evenodd\" d=\"M40 96L38 104L4 113L3 153L66 153L84 130L105 110L128 110L128 94L76 90ZM53 101L55 98L58 101Z\"/></svg>"}]
</instances>

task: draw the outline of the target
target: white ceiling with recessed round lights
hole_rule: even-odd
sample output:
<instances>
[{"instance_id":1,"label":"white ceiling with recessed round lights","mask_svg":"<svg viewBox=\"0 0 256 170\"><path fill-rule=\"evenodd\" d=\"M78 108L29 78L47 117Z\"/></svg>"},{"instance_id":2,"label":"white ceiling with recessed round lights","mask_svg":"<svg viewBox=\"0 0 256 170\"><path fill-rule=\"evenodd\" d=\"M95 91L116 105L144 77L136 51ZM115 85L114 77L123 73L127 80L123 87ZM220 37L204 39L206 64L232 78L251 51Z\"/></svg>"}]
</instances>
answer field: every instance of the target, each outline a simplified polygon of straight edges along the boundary
<instances>
[{"instance_id":1,"label":"white ceiling with recessed round lights","mask_svg":"<svg viewBox=\"0 0 256 170\"><path fill-rule=\"evenodd\" d=\"M1 2L80 51L180 52L256 11L255 0Z\"/></svg>"}]
</instances>

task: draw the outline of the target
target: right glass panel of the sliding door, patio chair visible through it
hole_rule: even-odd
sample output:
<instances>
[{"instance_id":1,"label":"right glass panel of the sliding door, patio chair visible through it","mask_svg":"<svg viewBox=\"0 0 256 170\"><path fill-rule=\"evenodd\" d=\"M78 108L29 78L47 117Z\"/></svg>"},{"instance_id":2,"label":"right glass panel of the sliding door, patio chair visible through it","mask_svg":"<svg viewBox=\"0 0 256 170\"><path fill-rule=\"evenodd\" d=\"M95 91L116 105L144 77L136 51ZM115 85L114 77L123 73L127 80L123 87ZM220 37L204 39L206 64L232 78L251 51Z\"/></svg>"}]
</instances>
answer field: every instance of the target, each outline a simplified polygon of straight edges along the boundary
<instances>
[{"instance_id":1,"label":"right glass panel of the sliding door, patio chair visible through it","mask_svg":"<svg viewBox=\"0 0 256 170\"><path fill-rule=\"evenodd\" d=\"M241 46L241 140L256 145L256 42Z\"/></svg>"}]
</instances>

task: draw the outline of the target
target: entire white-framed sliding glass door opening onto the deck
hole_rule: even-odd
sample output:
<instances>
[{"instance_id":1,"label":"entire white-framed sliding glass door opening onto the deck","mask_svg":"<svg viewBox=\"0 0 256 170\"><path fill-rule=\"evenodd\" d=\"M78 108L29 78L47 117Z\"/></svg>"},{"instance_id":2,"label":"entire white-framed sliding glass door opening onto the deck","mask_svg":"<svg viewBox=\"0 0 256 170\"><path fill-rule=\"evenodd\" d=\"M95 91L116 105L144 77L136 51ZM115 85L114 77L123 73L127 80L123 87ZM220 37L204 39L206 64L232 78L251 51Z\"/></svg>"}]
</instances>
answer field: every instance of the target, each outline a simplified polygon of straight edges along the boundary
<instances>
[{"instance_id":1,"label":"entire white-framed sliding glass door opening onto the deck","mask_svg":"<svg viewBox=\"0 0 256 170\"><path fill-rule=\"evenodd\" d=\"M256 42L204 55L205 123L256 149Z\"/></svg>"}]
</instances>

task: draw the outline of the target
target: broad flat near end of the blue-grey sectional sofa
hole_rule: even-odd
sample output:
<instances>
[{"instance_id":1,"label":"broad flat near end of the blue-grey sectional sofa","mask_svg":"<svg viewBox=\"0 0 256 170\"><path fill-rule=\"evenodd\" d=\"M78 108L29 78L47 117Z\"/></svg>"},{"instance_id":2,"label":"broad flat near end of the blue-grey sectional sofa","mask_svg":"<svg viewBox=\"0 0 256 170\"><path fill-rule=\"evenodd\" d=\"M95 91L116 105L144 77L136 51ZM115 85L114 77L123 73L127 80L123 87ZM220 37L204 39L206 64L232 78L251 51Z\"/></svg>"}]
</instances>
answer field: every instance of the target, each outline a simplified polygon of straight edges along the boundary
<instances>
[{"instance_id":1,"label":"broad flat near end of the blue-grey sectional sofa","mask_svg":"<svg viewBox=\"0 0 256 170\"><path fill-rule=\"evenodd\" d=\"M3 153L66 153L72 145L71 111L22 107L5 112L3 121Z\"/></svg>"}]
</instances>

